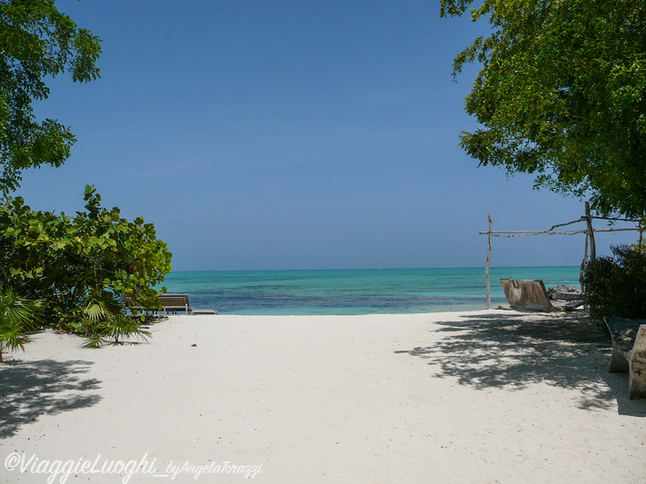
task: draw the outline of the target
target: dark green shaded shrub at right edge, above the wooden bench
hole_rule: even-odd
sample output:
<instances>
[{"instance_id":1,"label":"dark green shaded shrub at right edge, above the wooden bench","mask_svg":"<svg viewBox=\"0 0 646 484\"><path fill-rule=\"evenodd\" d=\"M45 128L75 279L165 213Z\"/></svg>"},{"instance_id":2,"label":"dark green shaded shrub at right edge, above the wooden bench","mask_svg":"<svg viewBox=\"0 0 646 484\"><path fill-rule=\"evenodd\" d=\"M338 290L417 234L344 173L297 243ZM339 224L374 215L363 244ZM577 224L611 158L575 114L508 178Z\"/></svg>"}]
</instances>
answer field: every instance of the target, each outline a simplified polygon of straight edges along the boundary
<instances>
[{"instance_id":1,"label":"dark green shaded shrub at right edge, above the wooden bench","mask_svg":"<svg viewBox=\"0 0 646 484\"><path fill-rule=\"evenodd\" d=\"M646 319L646 252L620 245L612 256L585 264L583 287L590 315Z\"/></svg>"}]
</instances>

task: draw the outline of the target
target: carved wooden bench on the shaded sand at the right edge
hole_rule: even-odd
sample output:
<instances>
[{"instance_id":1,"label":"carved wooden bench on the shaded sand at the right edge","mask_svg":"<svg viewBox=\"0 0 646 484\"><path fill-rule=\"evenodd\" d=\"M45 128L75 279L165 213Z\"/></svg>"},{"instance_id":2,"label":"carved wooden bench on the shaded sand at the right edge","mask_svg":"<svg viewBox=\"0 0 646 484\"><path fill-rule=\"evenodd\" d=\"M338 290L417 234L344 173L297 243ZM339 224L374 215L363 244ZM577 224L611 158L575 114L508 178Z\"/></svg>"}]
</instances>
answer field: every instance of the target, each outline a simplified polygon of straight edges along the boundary
<instances>
[{"instance_id":1,"label":"carved wooden bench on the shaded sand at the right edge","mask_svg":"<svg viewBox=\"0 0 646 484\"><path fill-rule=\"evenodd\" d=\"M611 372L628 371L631 400L646 399L646 320L603 318L612 338Z\"/></svg>"}]
</instances>

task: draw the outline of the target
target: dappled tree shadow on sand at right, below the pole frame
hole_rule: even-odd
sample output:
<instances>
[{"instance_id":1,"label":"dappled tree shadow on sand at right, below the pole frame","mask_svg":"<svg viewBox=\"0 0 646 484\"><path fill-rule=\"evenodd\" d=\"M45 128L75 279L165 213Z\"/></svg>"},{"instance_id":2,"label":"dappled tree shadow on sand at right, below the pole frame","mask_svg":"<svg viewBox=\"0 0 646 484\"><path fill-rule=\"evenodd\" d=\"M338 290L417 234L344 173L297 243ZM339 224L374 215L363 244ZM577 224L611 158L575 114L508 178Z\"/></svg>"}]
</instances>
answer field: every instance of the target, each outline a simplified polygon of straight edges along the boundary
<instances>
[{"instance_id":1,"label":"dappled tree shadow on sand at right, below the pole frame","mask_svg":"<svg viewBox=\"0 0 646 484\"><path fill-rule=\"evenodd\" d=\"M608 372L610 336L580 314L481 314L437 324L439 341L396 352L477 389L547 383L579 390L581 409L610 408L616 400L621 414L646 417L646 400L628 398L626 374Z\"/></svg>"}]
</instances>

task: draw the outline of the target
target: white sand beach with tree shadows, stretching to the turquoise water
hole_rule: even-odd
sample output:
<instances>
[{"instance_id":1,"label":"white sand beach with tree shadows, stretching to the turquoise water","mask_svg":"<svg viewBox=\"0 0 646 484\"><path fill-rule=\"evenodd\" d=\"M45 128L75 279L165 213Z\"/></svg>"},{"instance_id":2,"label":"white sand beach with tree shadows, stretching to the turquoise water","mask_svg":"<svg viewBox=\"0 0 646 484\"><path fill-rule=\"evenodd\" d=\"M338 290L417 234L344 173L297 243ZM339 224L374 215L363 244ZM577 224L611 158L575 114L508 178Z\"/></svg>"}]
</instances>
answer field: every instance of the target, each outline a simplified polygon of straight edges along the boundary
<instances>
[{"instance_id":1,"label":"white sand beach with tree shadows, stretching to the turquoise water","mask_svg":"<svg viewBox=\"0 0 646 484\"><path fill-rule=\"evenodd\" d=\"M151 331L102 350L48 331L5 355L0 480L646 481L646 400L578 316L171 316ZM57 459L75 472L52 478Z\"/></svg>"}]
</instances>

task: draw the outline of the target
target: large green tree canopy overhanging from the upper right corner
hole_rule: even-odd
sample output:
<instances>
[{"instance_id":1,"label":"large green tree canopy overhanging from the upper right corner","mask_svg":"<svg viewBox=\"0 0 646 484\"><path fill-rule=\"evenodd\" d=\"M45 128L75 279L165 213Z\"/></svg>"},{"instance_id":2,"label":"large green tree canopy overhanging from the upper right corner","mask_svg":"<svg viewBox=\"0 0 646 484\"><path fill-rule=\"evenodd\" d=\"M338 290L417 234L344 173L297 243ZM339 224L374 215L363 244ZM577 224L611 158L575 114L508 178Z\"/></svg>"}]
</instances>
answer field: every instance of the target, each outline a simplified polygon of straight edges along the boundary
<instances>
[{"instance_id":1,"label":"large green tree canopy overhanging from the upper right corner","mask_svg":"<svg viewBox=\"0 0 646 484\"><path fill-rule=\"evenodd\" d=\"M463 15L472 0L442 0ZM479 165L534 173L536 187L591 195L605 214L646 214L646 3L485 0L492 34L458 54L482 69L466 98L481 126L461 146Z\"/></svg>"}]
</instances>

